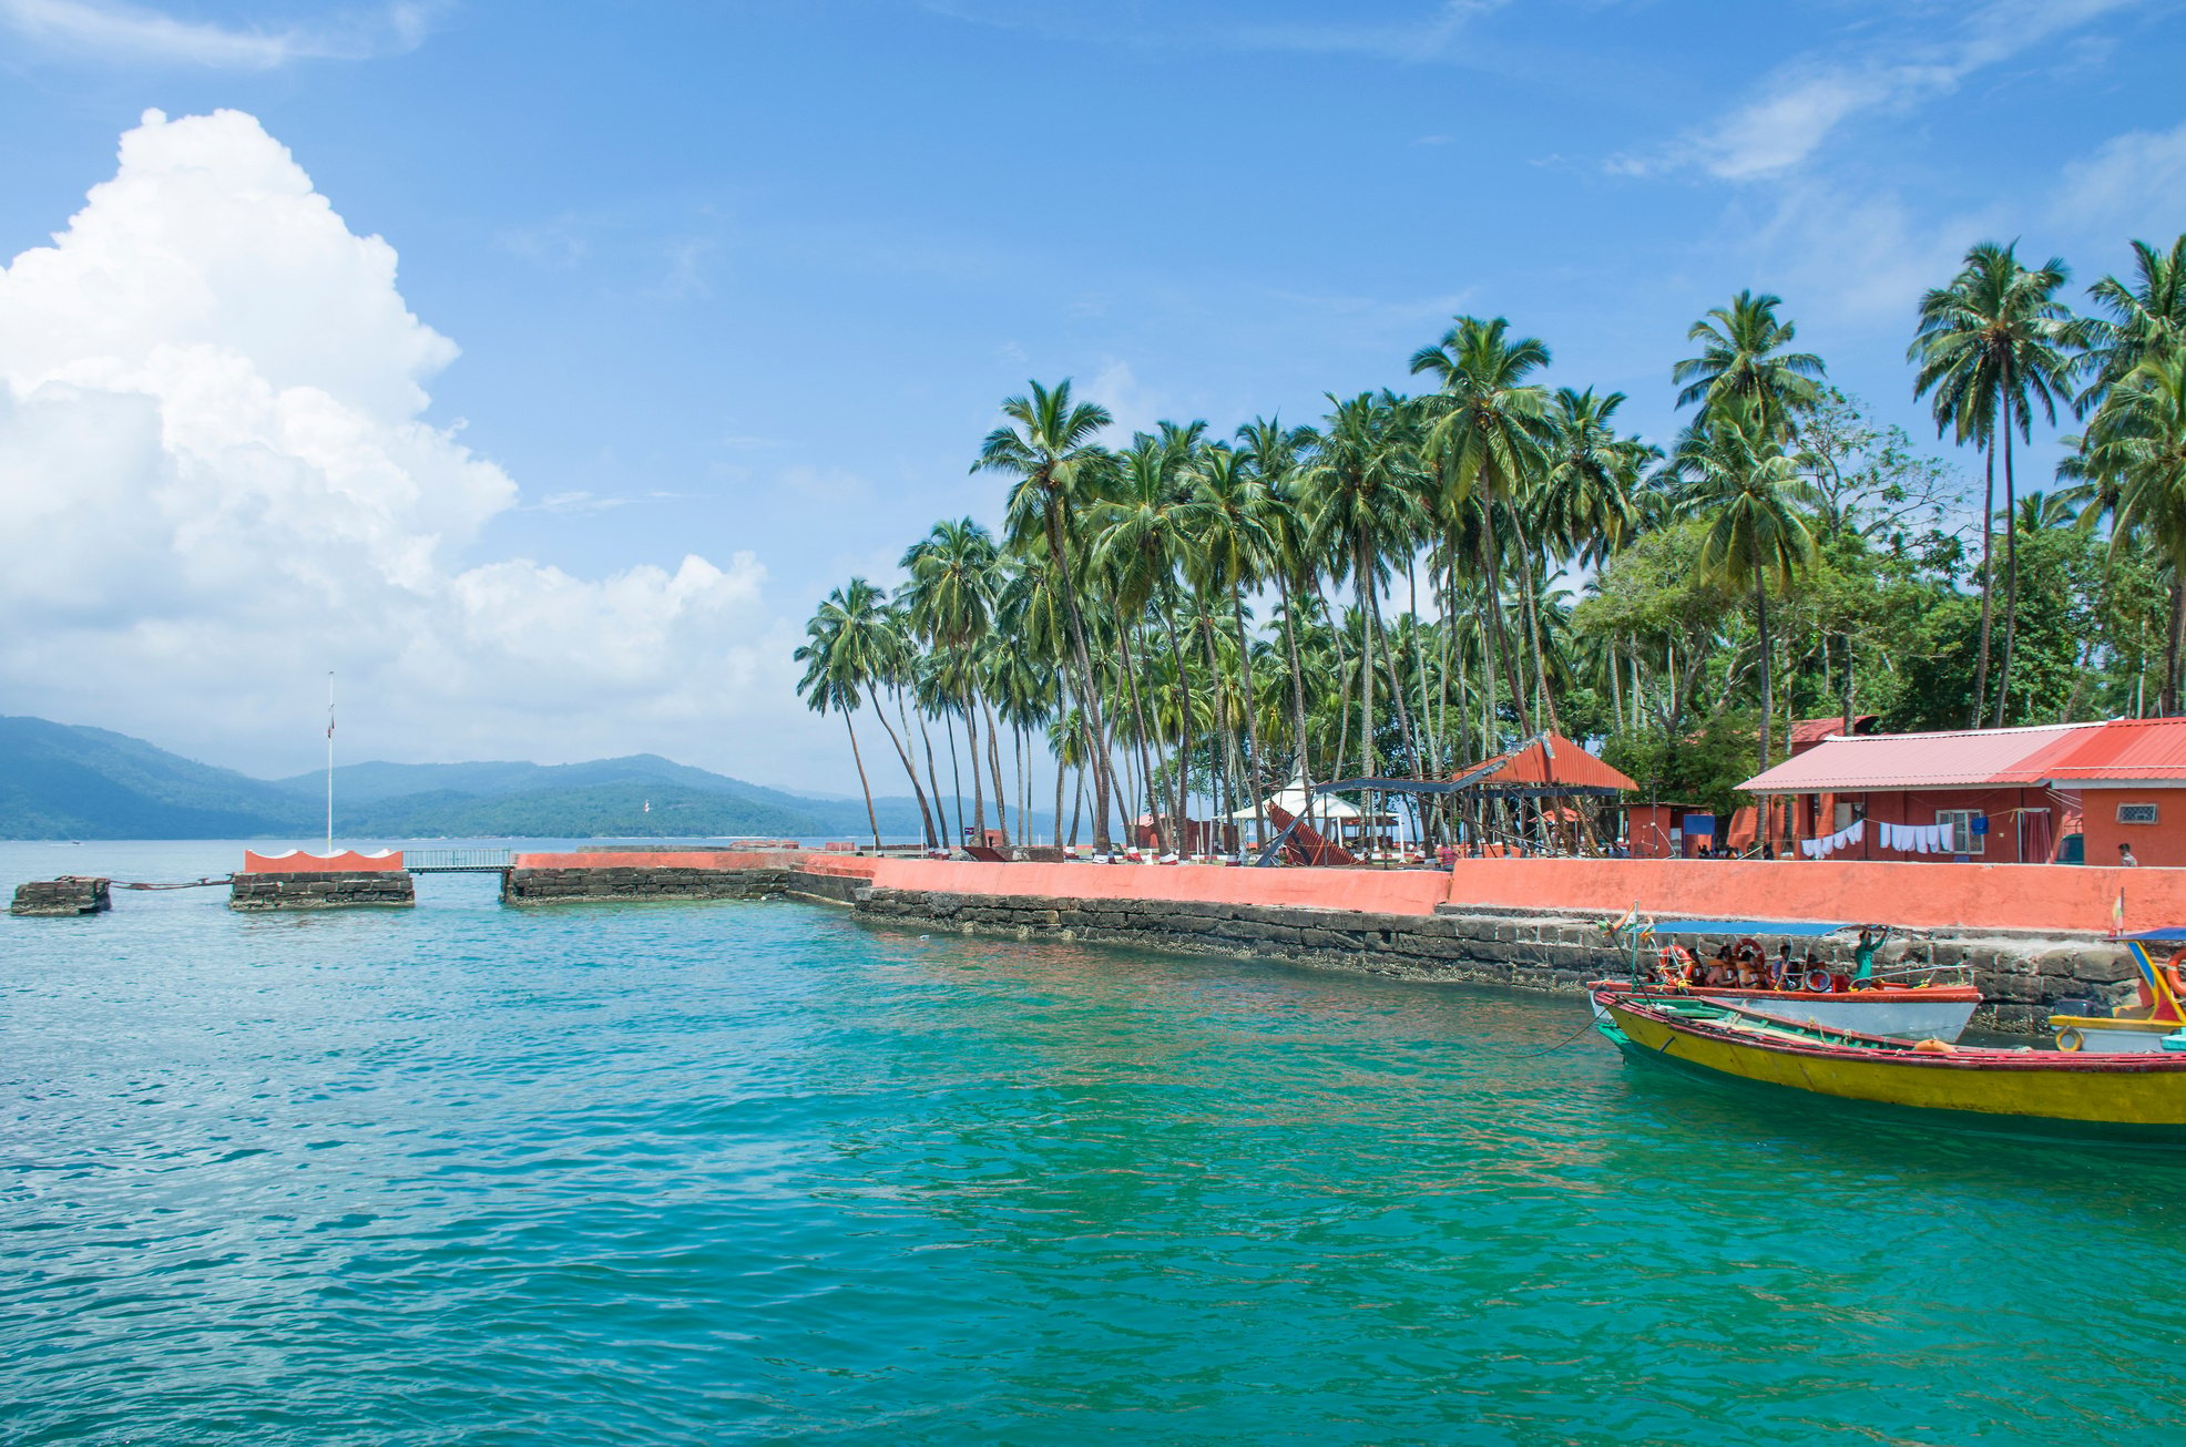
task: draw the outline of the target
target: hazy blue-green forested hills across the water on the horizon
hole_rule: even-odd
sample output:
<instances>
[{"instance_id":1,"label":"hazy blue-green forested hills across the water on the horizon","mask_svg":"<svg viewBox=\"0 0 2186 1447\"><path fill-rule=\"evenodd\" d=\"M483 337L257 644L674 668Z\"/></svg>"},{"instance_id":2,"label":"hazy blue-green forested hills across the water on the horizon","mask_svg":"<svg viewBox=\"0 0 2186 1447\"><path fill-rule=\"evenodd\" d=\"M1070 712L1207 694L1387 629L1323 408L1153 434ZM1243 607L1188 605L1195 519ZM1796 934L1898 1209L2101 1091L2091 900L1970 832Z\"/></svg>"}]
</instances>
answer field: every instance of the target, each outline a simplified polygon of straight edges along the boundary
<instances>
[{"instance_id":1,"label":"hazy blue-green forested hills across the water on the horizon","mask_svg":"<svg viewBox=\"0 0 2186 1447\"><path fill-rule=\"evenodd\" d=\"M310 839L324 828L324 774L251 778L103 728L0 717L4 839ZM918 835L912 800L874 800L874 811L883 835ZM863 800L807 798L634 754L568 765L343 765L334 769L334 833L850 839L870 826Z\"/></svg>"}]
</instances>

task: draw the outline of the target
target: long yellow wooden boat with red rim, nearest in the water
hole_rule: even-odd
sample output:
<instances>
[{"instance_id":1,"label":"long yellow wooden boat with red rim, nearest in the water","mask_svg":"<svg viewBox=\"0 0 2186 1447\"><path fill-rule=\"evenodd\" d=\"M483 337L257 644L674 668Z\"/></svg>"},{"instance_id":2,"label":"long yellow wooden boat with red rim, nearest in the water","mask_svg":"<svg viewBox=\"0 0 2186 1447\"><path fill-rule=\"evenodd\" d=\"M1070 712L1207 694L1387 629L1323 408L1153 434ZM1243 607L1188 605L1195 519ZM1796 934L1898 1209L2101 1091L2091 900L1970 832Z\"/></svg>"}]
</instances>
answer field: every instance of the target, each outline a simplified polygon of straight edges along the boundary
<instances>
[{"instance_id":1,"label":"long yellow wooden boat with red rim, nearest in the water","mask_svg":"<svg viewBox=\"0 0 2186 1447\"><path fill-rule=\"evenodd\" d=\"M2094 1056L1889 1040L1709 1001L1600 990L1624 1054L1814 1095L1987 1117L1996 1126L2186 1141L2186 1054Z\"/></svg>"}]
</instances>

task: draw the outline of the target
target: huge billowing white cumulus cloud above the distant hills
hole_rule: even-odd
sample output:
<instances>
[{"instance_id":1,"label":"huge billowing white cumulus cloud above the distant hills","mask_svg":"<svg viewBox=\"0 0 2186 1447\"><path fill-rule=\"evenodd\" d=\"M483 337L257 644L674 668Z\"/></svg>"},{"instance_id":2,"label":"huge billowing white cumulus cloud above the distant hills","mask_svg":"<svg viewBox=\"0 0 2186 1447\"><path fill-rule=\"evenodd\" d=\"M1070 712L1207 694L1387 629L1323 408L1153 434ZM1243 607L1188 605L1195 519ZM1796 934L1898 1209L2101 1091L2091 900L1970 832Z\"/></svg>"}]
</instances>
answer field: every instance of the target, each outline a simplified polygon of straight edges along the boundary
<instances>
[{"instance_id":1,"label":"huge billowing white cumulus cloud above the distant hills","mask_svg":"<svg viewBox=\"0 0 2186 1447\"><path fill-rule=\"evenodd\" d=\"M798 710L759 560L472 562L518 490L424 420L453 358L393 249L251 116L146 111L68 230L0 269L11 706L271 774L332 667L380 752L774 767L724 752L780 748Z\"/></svg>"}]
</instances>

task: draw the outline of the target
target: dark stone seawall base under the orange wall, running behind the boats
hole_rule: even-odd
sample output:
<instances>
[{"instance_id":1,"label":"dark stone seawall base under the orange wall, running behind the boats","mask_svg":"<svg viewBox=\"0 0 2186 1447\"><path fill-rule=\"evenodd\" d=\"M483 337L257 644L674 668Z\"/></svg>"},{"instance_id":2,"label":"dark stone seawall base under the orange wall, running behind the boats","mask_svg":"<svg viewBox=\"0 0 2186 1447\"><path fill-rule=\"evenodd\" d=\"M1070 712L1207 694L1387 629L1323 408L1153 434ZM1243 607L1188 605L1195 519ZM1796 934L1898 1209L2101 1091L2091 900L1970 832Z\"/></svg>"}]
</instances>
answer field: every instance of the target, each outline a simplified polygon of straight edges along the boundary
<instances>
[{"instance_id":1,"label":"dark stone seawall base under the orange wall, running behind the boats","mask_svg":"<svg viewBox=\"0 0 2186 1447\"><path fill-rule=\"evenodd\" d=\"M1235 905L1209 901L1054 898L1025 894L955 894L940 890L872 887L857 914L964 933L1086 940L1176 953L1283 960L1316 968L1421 981L1467 981L1578 995L1589 979L1624 973L1629 955L1596 918L1517 909L1454 909L1436 914L1366 914L1296 905ZM1755 936L1775 953L1782 936ZM1707 946L1714 949L1716 940ZM1793 938L1793 953L1812 949L1830 964L1849 964L1845 938ZM1989 1001L1976 1025L2000 1032L2040 1032L2064 999L2118 999L2131 977L2125 951L2099 936L2055 933L1930 933L1893 940L1882 951L1889 966L1908 949L1917 960L1965 964ZM2129 992L2129 988L2125 990Z\"/></svg>"}]
</instances>

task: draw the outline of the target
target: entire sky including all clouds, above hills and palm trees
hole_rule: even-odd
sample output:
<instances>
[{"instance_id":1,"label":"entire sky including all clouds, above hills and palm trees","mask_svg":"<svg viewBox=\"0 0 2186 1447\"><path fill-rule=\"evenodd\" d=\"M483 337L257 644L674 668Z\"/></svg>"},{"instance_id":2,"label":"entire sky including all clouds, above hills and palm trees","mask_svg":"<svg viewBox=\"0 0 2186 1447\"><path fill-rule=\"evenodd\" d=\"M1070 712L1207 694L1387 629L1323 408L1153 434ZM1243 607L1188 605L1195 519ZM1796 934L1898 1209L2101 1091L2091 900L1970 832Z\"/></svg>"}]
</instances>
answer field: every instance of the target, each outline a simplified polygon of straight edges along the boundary
<instances>
[{"instance_id":1,"label":"entire sky including all clouds, above hills and palm trees","mask_svg":"<svg viewBox=\"0 0 2186 1447\"><path fill-rule=\"evenodd\" d=\"M1904 348L1970 243L2077 295L2186 230L2182 22L0 0L0 713L275 776L334 671L348 758L848 793L802 621L999 522L1027 378L1224 435L1504 315L1664 439L1758 289L1932 444Z\"/></svg>"}]
</instances>

